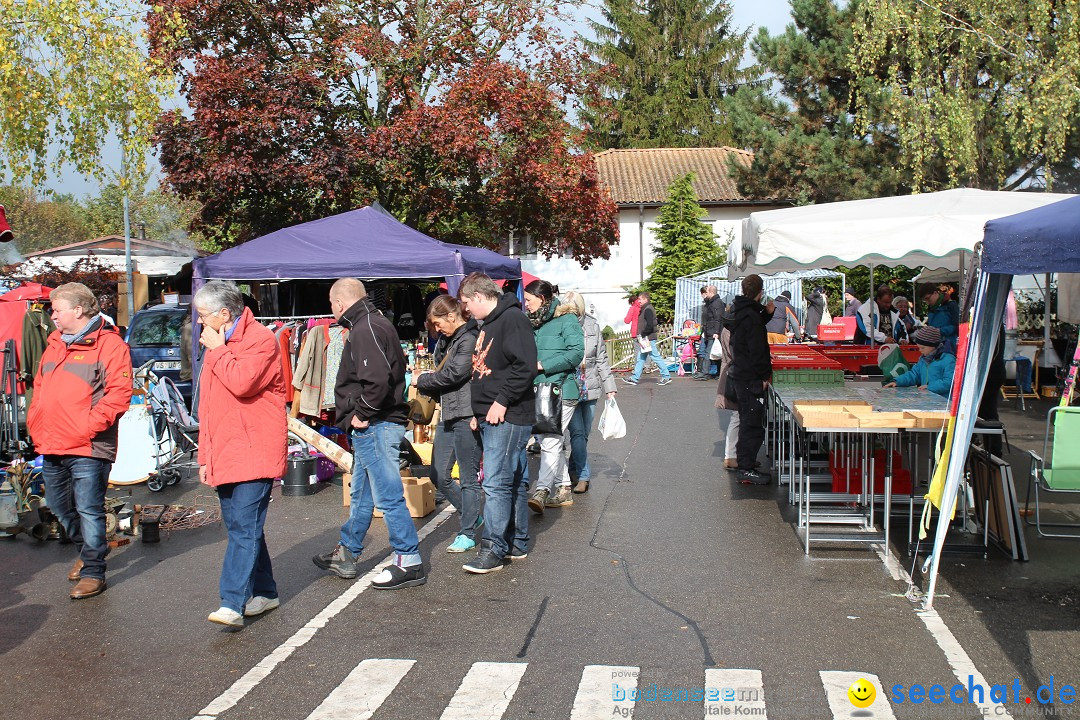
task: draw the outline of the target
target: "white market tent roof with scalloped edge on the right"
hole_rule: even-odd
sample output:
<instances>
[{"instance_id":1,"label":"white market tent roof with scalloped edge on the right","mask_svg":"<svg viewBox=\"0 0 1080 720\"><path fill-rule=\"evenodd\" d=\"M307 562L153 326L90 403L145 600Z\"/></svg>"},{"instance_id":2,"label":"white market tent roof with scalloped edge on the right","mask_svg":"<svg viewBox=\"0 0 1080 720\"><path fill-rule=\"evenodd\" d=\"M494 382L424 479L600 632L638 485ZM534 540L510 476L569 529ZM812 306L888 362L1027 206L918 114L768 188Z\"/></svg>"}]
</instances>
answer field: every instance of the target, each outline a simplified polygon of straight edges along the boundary
<instances>
[{"instance_id":1,"label":"white market tent roof with scalloped edge on the right","mask_svg":"<svg viewBox=\"0 0 1080 720\"><path fill-rule=\"evenodd\" d=\"M752 213L728 262L731 276L867 262L953 269L987 220L1070 196L959 189Z\"/></svg>"}]
</instances>

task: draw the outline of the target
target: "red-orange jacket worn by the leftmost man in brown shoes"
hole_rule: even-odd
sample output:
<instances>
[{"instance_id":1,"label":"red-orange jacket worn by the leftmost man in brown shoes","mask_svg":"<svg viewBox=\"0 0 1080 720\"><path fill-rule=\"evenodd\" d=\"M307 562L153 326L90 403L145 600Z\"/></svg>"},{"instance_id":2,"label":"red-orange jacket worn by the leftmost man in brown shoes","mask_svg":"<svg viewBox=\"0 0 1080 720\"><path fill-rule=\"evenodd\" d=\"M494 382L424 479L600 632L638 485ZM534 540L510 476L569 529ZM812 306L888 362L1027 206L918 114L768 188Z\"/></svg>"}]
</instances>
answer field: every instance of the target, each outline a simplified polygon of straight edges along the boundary
<instances>
[{"instance_id":1,"label":"red-orange jacket worn by the leftmost man in brown shoes","mask_svg":"<svg viewBox=\"0 0 1080 720\"><path fill-rule=\"evenodd\" d=\"M117 459L117 423L132 399L132 358L117 328L97 327L70 345L49 336L33 378L26 426L42 454Z\"/></svg>"}]
</instances>

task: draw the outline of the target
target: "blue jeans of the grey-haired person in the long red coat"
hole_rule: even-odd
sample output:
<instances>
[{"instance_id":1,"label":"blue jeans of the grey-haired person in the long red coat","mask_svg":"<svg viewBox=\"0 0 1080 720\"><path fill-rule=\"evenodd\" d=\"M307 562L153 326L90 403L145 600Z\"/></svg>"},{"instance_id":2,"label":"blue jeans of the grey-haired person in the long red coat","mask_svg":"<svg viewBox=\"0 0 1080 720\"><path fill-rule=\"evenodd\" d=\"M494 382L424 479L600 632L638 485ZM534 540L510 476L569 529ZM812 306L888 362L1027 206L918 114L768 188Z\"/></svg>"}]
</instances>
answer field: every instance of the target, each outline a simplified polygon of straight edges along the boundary
<instances>
[{"instance_id":1,"label":"blue jeans of the grey-haired person in the long red coat","mask_svg":"<svg viewBox=\"0 0 1080 720\"><path fill-rule=\"evenodd\" d=\"M221 562L221 607L244 612L251 597L278 597L270 553L262 534L273 480L249 480L217 486L221 520L229 546Z\"/></svg>"}]
</instances>

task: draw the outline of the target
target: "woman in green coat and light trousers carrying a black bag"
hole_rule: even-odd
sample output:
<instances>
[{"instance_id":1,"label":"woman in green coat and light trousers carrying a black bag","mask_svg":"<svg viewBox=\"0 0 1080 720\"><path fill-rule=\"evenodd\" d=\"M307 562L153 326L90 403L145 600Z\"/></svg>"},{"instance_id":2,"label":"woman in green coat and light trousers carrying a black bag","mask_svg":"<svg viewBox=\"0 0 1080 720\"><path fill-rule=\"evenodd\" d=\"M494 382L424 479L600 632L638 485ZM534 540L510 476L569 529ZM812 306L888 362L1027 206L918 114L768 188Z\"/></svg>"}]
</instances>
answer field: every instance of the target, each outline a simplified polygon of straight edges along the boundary
<instances>
[{"instance_id":1,"label":"woman in green coat and light trousers carrying a black bag","mask_svg":"<svg viewBox=\"0 0 1080 720\"><path fill-rule=\"evenodd\" d=\"M540 476L529 498L529 507L542 515L544 507L573 504L563 450L565 431L580 395L577 370L585 355L585 337L572 308L559 305L550 283L535 280L525 287L525 309L537 340L535 382L556 383L563 393L563 432L539 435Z\"/></svg>"}]
</instances>

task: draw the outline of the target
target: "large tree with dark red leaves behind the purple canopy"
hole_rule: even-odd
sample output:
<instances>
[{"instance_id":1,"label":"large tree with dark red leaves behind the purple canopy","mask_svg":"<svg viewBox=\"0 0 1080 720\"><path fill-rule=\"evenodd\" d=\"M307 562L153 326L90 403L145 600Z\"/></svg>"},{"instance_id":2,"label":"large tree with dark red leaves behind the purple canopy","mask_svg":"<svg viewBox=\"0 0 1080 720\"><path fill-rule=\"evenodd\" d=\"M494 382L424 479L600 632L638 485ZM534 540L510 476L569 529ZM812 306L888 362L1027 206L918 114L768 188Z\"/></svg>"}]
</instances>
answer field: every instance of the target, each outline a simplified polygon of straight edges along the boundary
<instances>
[{"instance_id":1,"label":"large tree with dark red leaves behind the purple canopy","mask_svg":"<svg viewBox=\"0 0 1080 720\"><path fill-rule=\"evenodd\" d=\"M186 24L191 112L162 117L174 190L227 246L380 202L448 242L528 233L588 264L616 207L565 111L589 92L558 0L158 0Z\"/></svg>"}]
</instances>

